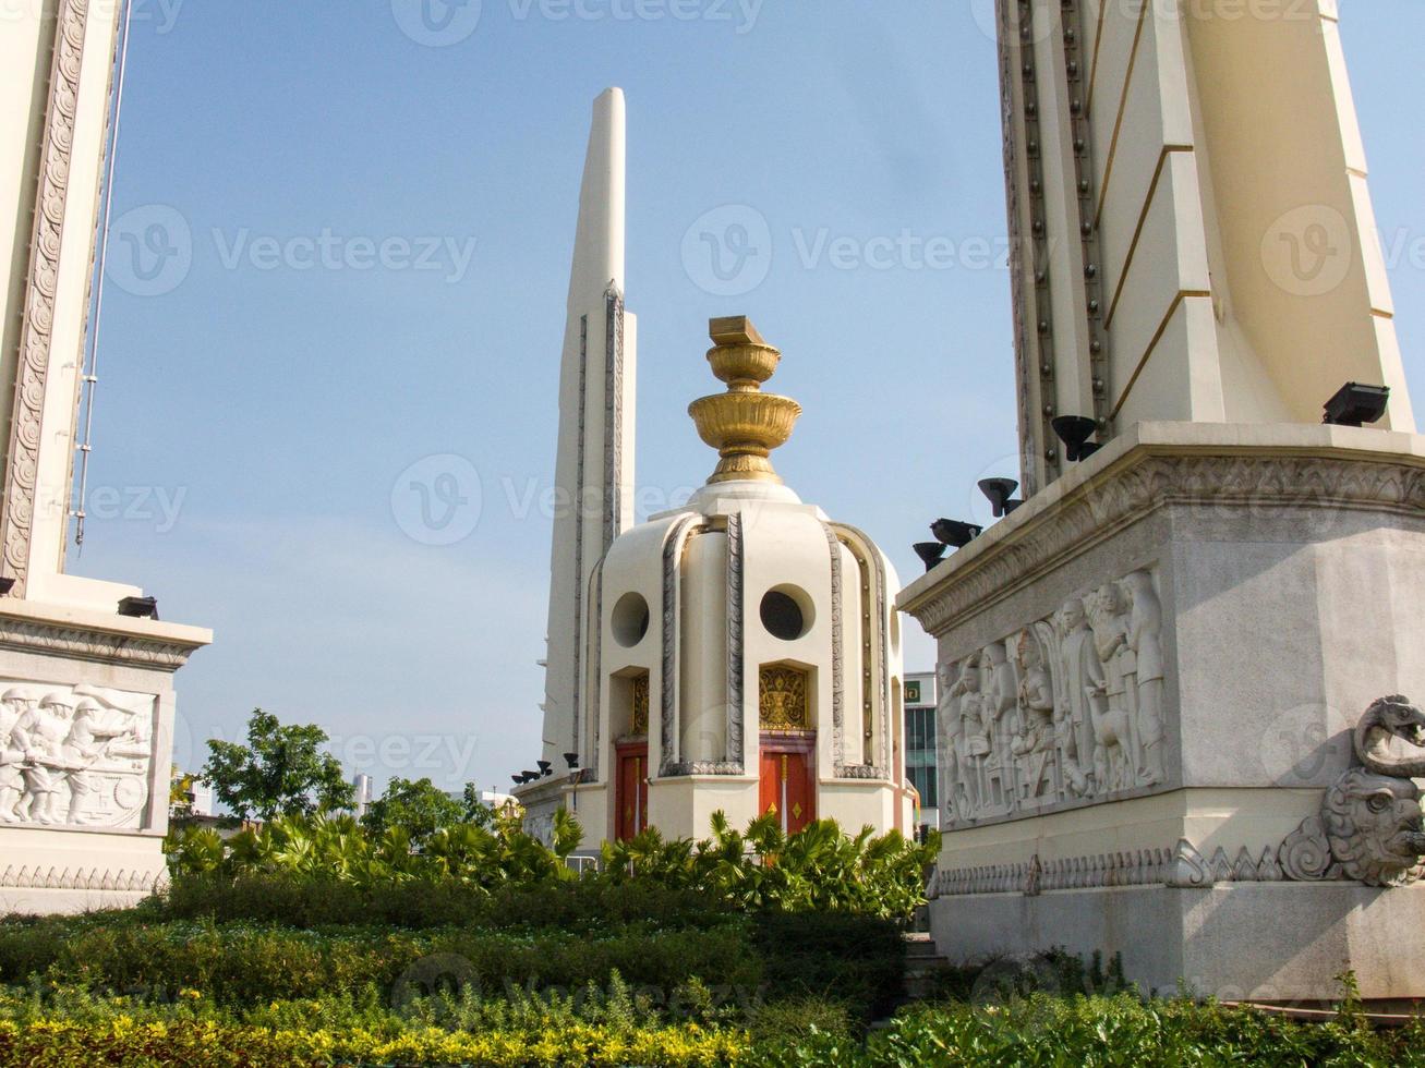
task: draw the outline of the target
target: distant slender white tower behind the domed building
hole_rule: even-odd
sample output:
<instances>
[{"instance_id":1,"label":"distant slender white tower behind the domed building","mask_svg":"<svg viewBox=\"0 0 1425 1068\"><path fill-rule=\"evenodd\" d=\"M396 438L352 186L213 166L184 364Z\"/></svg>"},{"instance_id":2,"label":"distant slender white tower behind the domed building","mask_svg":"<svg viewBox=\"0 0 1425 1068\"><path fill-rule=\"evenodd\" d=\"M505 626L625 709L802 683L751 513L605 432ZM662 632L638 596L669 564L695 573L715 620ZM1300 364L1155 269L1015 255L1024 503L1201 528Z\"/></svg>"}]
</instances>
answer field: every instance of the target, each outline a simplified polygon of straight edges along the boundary
<instances>
[{"instance_id":1,"label":"distant slender white tower behind the domed building","mask_svg":"<svg viewBox=\"0 0 1425 1068\"><path fill-rule=\"evenodd\" d=\"M543 759L577 752L590 577L633 521L637 336L624 312L624 97L594 101L559 382ZM597 618L597 615L593 615Z\"/></svg>"}]
</instances>

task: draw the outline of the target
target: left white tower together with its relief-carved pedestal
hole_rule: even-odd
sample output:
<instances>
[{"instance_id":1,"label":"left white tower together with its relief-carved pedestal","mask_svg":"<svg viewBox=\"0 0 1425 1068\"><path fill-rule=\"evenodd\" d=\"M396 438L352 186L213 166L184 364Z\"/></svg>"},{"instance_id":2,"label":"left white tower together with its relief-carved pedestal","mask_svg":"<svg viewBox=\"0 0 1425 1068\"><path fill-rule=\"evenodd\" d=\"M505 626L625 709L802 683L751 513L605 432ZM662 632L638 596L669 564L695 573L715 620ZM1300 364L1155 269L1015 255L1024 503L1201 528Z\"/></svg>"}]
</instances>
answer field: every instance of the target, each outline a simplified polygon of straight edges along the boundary
<instances>
[{"instance_id":1,"label":"left white tower together with its relief-carved pedestal","mask_svg":"<svg viewBox=\"0 0 1425 1068\"><path fill-rule=\"evenodd\" d=\"M162 880L172 675L212 641L160 622L137 587L64 570L127 10L0 19L0 913L133 903Z\"/></svg>"}]
</instances>

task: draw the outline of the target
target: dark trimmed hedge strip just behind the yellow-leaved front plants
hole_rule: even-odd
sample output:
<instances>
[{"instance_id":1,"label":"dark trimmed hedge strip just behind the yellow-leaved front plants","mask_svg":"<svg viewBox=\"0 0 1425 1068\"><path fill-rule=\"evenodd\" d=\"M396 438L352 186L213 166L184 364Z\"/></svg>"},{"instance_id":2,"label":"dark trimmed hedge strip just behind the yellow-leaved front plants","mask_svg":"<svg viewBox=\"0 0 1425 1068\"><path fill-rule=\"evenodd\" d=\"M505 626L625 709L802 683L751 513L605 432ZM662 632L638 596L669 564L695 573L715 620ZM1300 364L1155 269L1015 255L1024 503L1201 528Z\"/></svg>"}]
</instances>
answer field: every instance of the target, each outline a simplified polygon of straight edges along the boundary
<instances>
[{"instance_id":1,"label":"dark trimmed hedge strip just behind the yellow-leaved front plants","mask_svg":"<svg viewBox=\"0 0 1425 1068\"><path fill-rule=\"evenodd\" d=\"M399 930L274 924L134 923L128 914L0 921L0 984L172 998L194 990L224 1005L333 997L376 988L470 985L579 990L618 973L663 998L700 980L727 1004L805 995L844 1002L868 1021L901 993L905 944L896 924L871 917L722 916L718 926L651 923L598 931Z\"/></svg>"}]
</instances>

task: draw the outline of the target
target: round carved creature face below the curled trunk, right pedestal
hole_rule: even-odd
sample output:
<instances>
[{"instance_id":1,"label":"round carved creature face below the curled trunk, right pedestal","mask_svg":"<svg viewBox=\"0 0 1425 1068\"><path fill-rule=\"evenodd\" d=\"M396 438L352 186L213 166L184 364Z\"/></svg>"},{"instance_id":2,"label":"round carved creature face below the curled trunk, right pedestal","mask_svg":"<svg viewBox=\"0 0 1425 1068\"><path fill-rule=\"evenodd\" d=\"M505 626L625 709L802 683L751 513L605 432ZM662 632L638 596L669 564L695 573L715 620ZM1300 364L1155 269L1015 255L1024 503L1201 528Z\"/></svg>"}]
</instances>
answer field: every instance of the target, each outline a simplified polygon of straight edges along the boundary
<instances>
[{"instance_id":1,"label":"round carved creature face below the curled trunk, right pedestal","mask_svg":"<svg viewBox=\"0 0 1425 1068\"><path fill-rule=\"evenodd\" d=\"M1327 790L1321 822L1331 854L1348 877L1371 886L1402 886L1421 877L1421 792L1409 779L1352 768Z\"/></svg>"}]
</instances>

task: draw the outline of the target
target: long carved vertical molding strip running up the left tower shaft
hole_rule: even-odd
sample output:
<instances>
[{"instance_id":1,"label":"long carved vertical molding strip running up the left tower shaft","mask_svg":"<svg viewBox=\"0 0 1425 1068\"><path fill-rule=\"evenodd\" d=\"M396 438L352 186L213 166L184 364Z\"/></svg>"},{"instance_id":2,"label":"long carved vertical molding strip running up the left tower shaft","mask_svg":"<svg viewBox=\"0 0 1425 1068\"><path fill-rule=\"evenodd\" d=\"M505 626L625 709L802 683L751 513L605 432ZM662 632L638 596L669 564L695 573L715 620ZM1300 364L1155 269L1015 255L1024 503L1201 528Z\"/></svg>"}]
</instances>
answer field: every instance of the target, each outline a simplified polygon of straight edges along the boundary
<instances>
[{"instance_id":1,"label":"long carved vertical molding strip running up the left tower shaft","mask_svg":"<svg viewBox=\"0 0 1425 1068\"><path fill-rule=\"evenodd\" d=\"M10 417L10 461L4 473L4 508L0 515L4 572L16 580L14 597L24 597L30 578L40 426L50 373L54 298L60 279L60 238L68 199L70 152L74 145L76 105L88 20L88 0L61 0L58 7L50 100L44 115L44 144L40 150L34 234L30 239L20 362L16 369L14 409Z\"/></svg>"}]
</instances>

